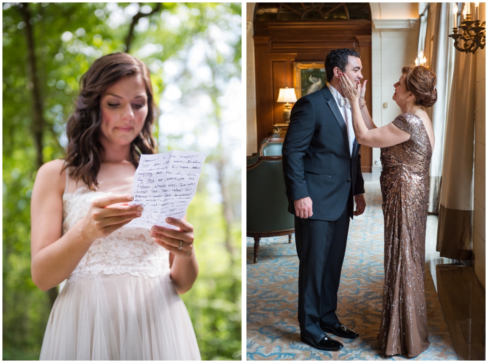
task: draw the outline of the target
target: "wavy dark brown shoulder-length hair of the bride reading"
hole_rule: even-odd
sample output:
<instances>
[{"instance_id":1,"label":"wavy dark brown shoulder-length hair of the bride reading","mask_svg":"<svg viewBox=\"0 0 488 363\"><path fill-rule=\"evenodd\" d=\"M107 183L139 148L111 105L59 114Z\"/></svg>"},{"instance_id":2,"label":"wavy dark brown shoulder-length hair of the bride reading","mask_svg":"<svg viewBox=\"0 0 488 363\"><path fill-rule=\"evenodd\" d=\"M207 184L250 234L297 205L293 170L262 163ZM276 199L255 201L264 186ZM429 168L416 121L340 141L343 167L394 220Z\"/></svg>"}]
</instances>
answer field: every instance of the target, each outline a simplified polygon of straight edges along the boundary
<instances>
[{"instance_id":1,"label":"wavy dark brown shoulder-length hair of the bride reading","mask_svg":"<svg viewBox=\"0 0 488 363\"><path fill-rule=\"evenodd\" d=\"M75 111L66 123L68 146L63 170L71 168L70 176L77 181L82 179L91 190L98 186L97 174L104 153L99 140L102 123L100 99L110 85L122 77L136 75L140 75L145 84L148 108L142 131L130 145L130 161L137 168L141 154L156 153L156 140L151 133L156 105L149 69L141 60L127 53L113 53L95 60L81 76Z\"/></svg>"}]
</instances>

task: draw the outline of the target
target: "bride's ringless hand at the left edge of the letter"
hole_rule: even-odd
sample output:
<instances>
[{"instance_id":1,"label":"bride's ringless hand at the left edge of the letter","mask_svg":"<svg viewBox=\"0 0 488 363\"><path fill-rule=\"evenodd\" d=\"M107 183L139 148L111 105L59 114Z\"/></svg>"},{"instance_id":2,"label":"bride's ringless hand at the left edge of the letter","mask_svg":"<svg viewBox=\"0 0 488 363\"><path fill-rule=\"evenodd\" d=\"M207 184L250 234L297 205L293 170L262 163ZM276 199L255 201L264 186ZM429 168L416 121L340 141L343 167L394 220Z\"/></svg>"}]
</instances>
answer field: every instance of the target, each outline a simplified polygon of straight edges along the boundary
<instances>
[{"instance_id":1,"label":"bride's ringless hand at the left edge of the letter","mask_svg":"<svg viewBox=\"0 0 488 363\"><path fill-rule=\"evenodd\" d=\"M142 215L139 204L128 205L132 195L110 195L95 199L83 218L83 233L90 242L106 237Z\"/></svg>"}]
</instances>

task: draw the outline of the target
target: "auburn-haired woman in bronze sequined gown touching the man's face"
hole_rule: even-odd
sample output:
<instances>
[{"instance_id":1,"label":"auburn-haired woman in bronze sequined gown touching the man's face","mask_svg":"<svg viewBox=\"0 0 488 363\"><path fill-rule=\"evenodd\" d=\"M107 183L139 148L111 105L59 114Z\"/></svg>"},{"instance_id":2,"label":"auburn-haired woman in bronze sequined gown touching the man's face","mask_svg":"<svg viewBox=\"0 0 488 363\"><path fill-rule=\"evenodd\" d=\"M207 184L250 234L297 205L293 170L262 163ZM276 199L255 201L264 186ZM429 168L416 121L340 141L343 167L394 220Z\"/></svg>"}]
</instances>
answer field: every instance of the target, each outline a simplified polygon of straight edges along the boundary
<instances>
[{"instance_id":1,"label":"auburn-haired woman in bronze sequined gown touching the man's face","mask_svg":"<svg viewBox=\"0 0 488 363\"><path fill-rule=\"evenodd\" d=\"M347 77L341 81L358 142L381 148L385 285L379 347L388 356L415 357L429 346L424 265L434 133L425 108L437 100L436 76L424 66L404 67L393 95L402 114L379 128L361 107L366 81L363 86Z\"/></svg>"}]
</instances>

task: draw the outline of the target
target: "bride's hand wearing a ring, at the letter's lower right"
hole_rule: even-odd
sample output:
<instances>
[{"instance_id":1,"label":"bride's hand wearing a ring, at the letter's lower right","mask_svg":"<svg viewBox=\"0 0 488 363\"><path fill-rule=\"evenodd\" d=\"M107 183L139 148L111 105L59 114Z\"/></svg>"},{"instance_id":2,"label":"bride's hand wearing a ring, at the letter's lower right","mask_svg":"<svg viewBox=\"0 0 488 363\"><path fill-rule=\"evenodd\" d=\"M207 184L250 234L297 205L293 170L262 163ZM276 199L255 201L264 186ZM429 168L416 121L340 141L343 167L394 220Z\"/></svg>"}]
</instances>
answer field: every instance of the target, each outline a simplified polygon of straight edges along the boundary
<instances>
[{"instance_id":1,"label":"bride's hand wearing a ring, at the letter's lower right","mask_svg":"<svg viewBox=\"0 0 488 363\"><path fill-rule=\"evenodd\" d=\"M179 229L171 229L161 226L153 226L151 237L158 245L178 257L191 255L193 250L193 226L183 219L166 218L166 223Z\"/></svg>"}]
</instances>

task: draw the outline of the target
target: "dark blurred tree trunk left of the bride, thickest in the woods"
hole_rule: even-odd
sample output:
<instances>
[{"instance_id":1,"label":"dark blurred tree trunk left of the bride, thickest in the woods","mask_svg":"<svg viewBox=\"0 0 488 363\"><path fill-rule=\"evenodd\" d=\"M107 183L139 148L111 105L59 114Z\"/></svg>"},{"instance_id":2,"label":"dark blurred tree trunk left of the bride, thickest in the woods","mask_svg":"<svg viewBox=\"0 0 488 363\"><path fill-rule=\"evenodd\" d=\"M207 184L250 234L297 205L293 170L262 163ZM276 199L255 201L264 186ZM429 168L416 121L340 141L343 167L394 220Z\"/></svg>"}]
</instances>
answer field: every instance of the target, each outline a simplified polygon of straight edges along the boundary
<instances>
[{"instance_id":1,"label":"dark blurred tree trunk left of the bride, thickest in the woods","mask_svg":"<svg viewBox=\"0 0 488 363\"><path fill-rule=\"evenodd\" d=\"M39 90L39 78L37 76L37 66L36 66L36 54L35 54L35 46L34 46L34 32L32 26L29 22L31 19L31 15L29 12L29 3L22 2L21 7L19 8L20 14L22 15L22 19L25 22L25 35L27 38L27 75L30 79L30 84L27 86L32 93L32 132L34 137L34 145L36 147L36 162L37 162L37 169L41 168L43 162L42 157L42 135L44 132L44 125L45 121L43 118L43 110L42 110L42 101L41 101L41 92ZM58 287L53 287L47 291L47 295L49 296L49 302L51 307L54 305L54 301L58 296Z\"/></svg>"}]
</instances>

